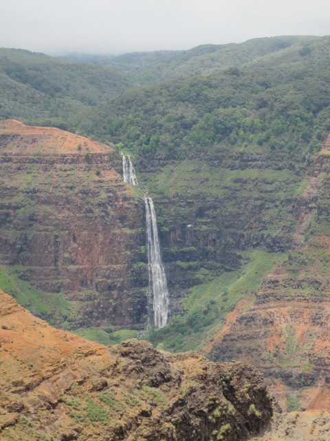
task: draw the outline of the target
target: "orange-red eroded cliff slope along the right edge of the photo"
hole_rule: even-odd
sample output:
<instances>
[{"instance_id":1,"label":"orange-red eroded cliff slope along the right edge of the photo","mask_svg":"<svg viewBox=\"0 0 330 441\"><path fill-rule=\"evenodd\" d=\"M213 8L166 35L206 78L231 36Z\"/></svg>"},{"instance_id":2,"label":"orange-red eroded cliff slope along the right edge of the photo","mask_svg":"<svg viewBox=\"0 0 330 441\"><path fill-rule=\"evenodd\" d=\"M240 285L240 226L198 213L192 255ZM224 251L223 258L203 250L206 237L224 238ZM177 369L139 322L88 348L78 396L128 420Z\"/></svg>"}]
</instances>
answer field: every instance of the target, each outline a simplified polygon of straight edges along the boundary
<instances>
[{"instance_id":1,"label":"orange-red eroded cliff slope along the right edge of the photo","mask_svg":"<svg viewBox=\"0 0 330 441\"><path fill-rule=\"evenodd\" d=\"M293 246L256 293L236 307L206 347L212 360L250 361L284 409L330 404L330 136L297 207Z\"/></svg>"}]
</instances>

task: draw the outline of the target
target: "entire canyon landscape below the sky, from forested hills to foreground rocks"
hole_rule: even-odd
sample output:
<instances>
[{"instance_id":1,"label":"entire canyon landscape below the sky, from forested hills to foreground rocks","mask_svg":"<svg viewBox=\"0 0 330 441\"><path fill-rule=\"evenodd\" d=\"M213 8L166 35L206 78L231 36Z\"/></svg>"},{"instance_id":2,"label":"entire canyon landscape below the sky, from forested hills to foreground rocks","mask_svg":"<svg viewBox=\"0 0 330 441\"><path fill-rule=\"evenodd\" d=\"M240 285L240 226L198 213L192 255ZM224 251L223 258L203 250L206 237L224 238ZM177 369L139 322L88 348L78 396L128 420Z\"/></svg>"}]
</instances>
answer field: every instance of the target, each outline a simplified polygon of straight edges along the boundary
<instances>
[{"instance_id":1,"label":"entire canyon landscape below the sky, from forested hills to foreground rocks","mask_svg":"<svg viewBox=\"0 0 330 441\"><path fill-rule=\"evenodd\" d=\"M0 51L1 436L327 441L329 37L158 55Z\"/></svg>"}]
</instances>

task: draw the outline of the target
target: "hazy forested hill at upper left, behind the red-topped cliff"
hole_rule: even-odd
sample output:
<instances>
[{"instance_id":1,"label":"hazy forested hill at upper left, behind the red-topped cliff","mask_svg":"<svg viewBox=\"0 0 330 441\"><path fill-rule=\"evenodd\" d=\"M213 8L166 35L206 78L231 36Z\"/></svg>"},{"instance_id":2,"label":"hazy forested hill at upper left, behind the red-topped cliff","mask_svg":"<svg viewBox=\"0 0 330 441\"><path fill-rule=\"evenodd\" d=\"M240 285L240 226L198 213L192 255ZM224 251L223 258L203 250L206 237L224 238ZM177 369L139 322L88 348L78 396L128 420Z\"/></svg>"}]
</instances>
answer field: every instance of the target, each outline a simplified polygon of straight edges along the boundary
<instances>
[{"instance_id":1,"label":"hazy forested hill at upper left, behind the red-topped cliff","mask_svg":"<svg viewBox=\"0 0 330 441\"><path fill-rule=\"evenodd\" d=\"M67 128L75 114L132 86L125 74L99 65L0 49L0 118L47 119Z\"/></svg>"}]
</instances>

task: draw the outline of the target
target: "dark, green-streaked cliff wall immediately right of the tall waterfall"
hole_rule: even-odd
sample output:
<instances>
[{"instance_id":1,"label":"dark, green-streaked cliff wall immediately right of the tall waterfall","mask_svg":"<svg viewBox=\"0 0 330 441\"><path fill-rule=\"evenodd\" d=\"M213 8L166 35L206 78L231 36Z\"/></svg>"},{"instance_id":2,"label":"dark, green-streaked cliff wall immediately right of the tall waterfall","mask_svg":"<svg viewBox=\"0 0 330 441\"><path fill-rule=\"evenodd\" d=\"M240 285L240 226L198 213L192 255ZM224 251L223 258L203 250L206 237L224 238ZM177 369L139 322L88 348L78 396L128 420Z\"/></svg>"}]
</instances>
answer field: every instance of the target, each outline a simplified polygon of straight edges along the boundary
<instances>
[{"instance_id":1,"label":"dark, green-streaked cliff wall immediately right of the tall waterfall","mask_svg":"<svg viewBox=\"0 0 330 441\"><path fill-rule=\"evenodd\" d=\"M136 166L140 182L155 192L173 296L199 283L201 267L217 276L240 267L242 251L287 249L309 157L219 146L176 161L139 158Z\"/></svg>"}]
</instances>

